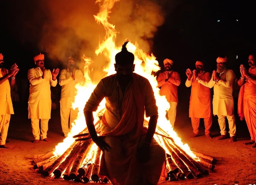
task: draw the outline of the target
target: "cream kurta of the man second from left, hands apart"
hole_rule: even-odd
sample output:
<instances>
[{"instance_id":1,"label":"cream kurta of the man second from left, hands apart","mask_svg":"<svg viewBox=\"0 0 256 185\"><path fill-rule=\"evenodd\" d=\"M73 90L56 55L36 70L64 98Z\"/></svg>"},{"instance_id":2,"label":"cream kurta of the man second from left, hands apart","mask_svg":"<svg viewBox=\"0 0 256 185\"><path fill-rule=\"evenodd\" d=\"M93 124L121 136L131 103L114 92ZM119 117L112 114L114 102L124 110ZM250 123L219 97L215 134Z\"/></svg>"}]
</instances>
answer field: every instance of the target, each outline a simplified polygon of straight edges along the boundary
<instances>
[{"instance_id":1,"label":"cream kurta of the man second from left, hands apart","mask_svg":"<svg viewBox=\"0 0 256 185\"><path fill-rule=\"evenodd\" d=\"M28 70L27 78L29 87L29 118L50 119L51 118L51 86L57 85L57 80L52 80L52 73L45 69L45 77L42 78L43 71L36 67Z\"/></svg>"}]
</instances>

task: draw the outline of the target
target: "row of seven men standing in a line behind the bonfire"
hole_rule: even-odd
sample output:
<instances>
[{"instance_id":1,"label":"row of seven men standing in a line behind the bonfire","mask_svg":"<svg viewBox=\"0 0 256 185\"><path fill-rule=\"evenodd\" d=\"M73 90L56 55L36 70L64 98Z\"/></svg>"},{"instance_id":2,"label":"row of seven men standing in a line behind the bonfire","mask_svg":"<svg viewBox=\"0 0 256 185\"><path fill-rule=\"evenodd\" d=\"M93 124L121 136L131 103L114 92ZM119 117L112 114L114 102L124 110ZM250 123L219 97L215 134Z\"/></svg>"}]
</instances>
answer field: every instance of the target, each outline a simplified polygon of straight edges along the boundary
<instances>
[{"instance_id":1,"label":"row of seven men standing in a line behind the bonfire","mask_svg":"<svg viewBox=\"0 0 256 185\"><path fill-rule=\"evenodd\" d=\"M234 86L240 87L238 98L238 115L241 120L245 119L251 140L245 144L252 144L256 147L256 56L249 55L249 69L244 65L240 66L241 77L237 80L233 70L227 68L227 57L216 59L217 68L212 75L204 71L204 63L195 62L195 70L187 69L185 85L191 87L189 102L189 117L193 134L191 137L199 136L200 119L204 119L205 135L211 139L212 116L218 117L220 126L220 136L216 139L226 139L226 119L229 126L229 142L236 141L236 123L234 119ZM0 109L0 148L8 148L5 145L9 127L10 115L13 114L10 87L15 84L15 76L18 73L17 64L13 64L9 70L3 68L3 55L0 54L0 104L4 105ZM69 56L66 59L66 68L61 70L56 68L52 72L44 66L44 55L39 54L34 57L35 68L28 70L29 80L29 100L28 117L31 119L31 128L34 136L33 143L39 140L49 142L47 138L48 121L51 115L51 86L57 83L61 86L60 114L61 126L65 137L69 133L75 120L78 110L72 108L74 102L76 84L85 82L83 72L75 68L74 58ZM174 127L176 119L176 108L178 104L178 90L181 79L180 74L172 69L173 60L164 59L164 71L157 75L160 95L164 95L170 104L170 109L166 110L166 118ZM58 81L57 76L60 72ZM211 91L213 88L213 100L211 102Z\"/></svg>"}]
</instances>

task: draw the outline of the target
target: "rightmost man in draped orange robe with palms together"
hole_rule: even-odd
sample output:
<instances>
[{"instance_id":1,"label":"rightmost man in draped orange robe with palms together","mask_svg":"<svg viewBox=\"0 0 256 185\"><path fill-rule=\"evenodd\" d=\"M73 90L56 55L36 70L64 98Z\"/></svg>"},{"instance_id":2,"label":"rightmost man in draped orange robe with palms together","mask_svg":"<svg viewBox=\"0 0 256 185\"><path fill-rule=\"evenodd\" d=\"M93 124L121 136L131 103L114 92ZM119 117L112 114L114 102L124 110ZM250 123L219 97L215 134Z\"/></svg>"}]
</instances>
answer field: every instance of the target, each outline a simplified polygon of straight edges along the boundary
<instances>
[{"instance_id":1,"label":"rightmost man in draped orange robe with palms together","mask_svg":"<svg viewBox=\"0 0 256 185\"><path fill-rule=\"evenodd\" d=\"M238 96L238 115L240 120L247 123L250 132L251 140L244 144L252 144L252 148L256 148L256 55L249 55L248 64L249 70L245 69L242 64L240 66L241 77L238 80L238 85L241 86Z\"/></svg>"}]
</instances>

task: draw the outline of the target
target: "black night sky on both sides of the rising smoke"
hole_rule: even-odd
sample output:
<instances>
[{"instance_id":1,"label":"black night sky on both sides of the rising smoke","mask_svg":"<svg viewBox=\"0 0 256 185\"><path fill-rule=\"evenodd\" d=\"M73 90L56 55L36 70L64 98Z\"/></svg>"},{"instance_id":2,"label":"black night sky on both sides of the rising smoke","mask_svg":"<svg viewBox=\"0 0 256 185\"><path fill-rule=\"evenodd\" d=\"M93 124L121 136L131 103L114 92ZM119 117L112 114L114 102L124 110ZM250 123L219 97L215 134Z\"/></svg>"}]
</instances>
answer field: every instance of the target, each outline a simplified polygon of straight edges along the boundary
<instances>
[{"instance_id":1,"label":"black night sky on both sides of the rising smoke","mask_svg":"<svg viewBox=\"0 0 256 185\"><path fill-rule=\"evenodd\" d=\"M33 67L33 56L41 51L42 25L54 15L49 16L36 0L0 0L0 4L0 53L7 63L18 63L23 70L20 73L26 74ZM236 71L240 63L246 64L249 53L256 51L253 0L164 0L159 4L166 18L151 42L159 64L168 57L175 70L185 73L201 60L207 64L206 70L212 71L216 58L226 55Z\"/></svg>"}]
</instances>

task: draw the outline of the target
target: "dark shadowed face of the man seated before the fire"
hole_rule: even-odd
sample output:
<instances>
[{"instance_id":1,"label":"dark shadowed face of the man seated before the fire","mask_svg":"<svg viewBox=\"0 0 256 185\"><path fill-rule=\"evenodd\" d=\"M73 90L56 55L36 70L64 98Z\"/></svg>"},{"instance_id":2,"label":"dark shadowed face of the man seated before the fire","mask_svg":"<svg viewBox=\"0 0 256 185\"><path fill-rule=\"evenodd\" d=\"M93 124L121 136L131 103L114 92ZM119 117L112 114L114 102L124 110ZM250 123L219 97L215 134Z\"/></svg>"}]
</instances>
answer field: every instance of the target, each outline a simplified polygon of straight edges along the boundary
<instances>
[{"instance_id":1,"label":"dark shadowed face of the man seated before the fire","mask_svg":"<svg viewBox=\"0 0 256 185\"><path fill-rule=\"evenodd\" d=\"M132 79L132 73L135 68L135 64L114 64L117 71L117 79L119 81L130 81Z\"/></svg>"}]
</instances>

